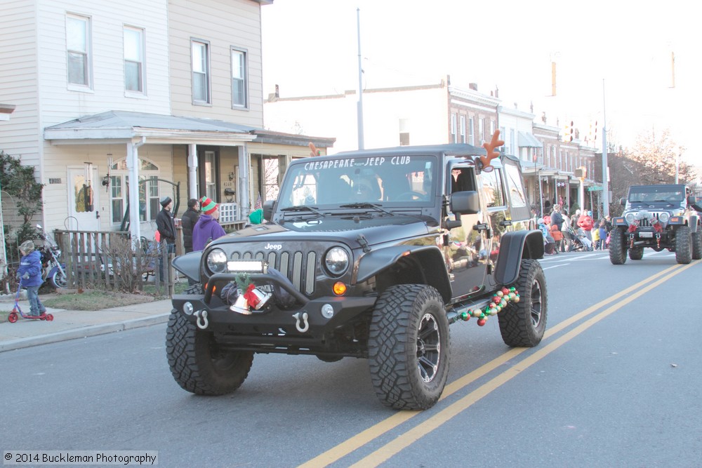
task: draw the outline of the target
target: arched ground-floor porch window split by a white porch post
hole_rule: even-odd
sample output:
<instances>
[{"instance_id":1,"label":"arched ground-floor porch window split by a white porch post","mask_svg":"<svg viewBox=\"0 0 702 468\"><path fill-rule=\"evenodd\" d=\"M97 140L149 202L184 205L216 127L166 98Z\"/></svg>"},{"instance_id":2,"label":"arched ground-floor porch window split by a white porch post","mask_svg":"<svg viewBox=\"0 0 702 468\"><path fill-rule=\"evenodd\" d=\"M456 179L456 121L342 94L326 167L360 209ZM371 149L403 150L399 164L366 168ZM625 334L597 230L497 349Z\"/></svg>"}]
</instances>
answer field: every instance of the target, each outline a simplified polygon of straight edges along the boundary
<instances>
[{"instance_id":1,"label":"arched ground-floor porch window split by a white porch post","mask_svg":"<svg viewBox=\"0 0 702 468\"><path fill-rule=\"evenodd\" d=\"M139 159L139 220L152 221L161 210L159 203L159 168L153 163ZM112 224L118 225L126 214L129 204L129 171L126 159L117 161L110 167L110 208L112 208Z\"/></svg>"}]
</instances>

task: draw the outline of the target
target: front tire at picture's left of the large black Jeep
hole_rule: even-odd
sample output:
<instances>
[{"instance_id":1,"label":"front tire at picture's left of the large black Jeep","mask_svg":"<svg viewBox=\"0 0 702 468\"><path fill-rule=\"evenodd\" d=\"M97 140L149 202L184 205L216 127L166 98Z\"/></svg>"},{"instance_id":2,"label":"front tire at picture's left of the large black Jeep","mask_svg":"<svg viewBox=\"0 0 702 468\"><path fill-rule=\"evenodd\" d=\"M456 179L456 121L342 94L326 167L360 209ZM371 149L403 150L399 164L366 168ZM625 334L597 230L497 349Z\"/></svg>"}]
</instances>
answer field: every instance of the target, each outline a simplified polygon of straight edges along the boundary
<instances>
[{"instance_id":1,"label":"front tire at picture's left of the large black Jeep","mask_svg":"<svg viewBox=\"0 0 702 468\"><path fill-rule=\"evenodd\" d=\"M176 310L168 319L166 355L178 385L199 395L234 392L253 363L253 352L220 349L212 333L200 330Z\"/></svg>"}]
</instances>

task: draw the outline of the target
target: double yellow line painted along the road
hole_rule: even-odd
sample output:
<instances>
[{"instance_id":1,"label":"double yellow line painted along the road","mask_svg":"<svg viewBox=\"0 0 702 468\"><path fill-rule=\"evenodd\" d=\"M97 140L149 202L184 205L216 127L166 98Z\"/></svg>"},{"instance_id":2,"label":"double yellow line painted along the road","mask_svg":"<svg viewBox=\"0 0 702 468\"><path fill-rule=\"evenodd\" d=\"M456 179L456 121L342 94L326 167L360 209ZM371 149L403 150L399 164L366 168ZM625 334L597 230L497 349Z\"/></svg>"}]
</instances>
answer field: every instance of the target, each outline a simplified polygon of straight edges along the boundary
<instances>
[{"instance_id":1,"label":"double yellow line painted along the road","mask_svg":"<svg viewBox=\"0 0 702 468\"><path fill-rule=\"evenodd\" d=\"M577 326L573 330L570 330L568 333L565 333L563 336L553 340L548 345L538 348L536 352L534 352L530 356L527 356L519 363L515 364L514 366L511 366L510 368L508 368L508 370L505 370L503 373L497 375L489 382L486 382L484 385L481 385L474 391L470 392L468 395L463 396L463 398L459 399L455 403L451 403L449 406L447 406L443 410L440 410L432 417L429 417L427 420L420 422L416 426L404 432L402 436L397 436L397 438L395 438L393 441L386 443L385 446L378 448L378 450L375 450L373 453L367 455L356 464L353 464L352 467L376 467L379 464L385 462L386 460L390 459L390 457L392 457L393 455L396 455L404 448L411 446L412 443L418 441L421 437L425 436L434 429L437 429L442 424L450 420L452 417L458 415L459 413L461 413L461 411L470 407L473 403L479 401L479 399L482 399L483 396L486 396L490 392L503 385L505 382L508 382L513 377L519 375L519 373L521 373L524 369L528 368L529 366L538 361L541 361L541 359L545 358L545 356L548 356L548 354L550 354L551 352L555 351L565 343L569 342L574 337L580 335L585 330L595 325L595 323L614 313L616 310L621 309L623 305L626 305L629 302L636 300L642 295L648 293L651 289L656 288L656 286L660 286L662 283L665 283L665 281L670 280L671 278L673 278L673 276L684 272L686 269L692 267L693 265L696 265L696 263L698 262L693 262L689 265L674 265L673 267L664 269L662 272L658 272L653 276L644 279L643 281L639 281L638 283L629 286L624 290L621 290L619 293L616 293L615 295L607 297L607 299L597 302L597 304L588 307L582 312L578 312L578 314L571 316L569 319L558 323L556 326L546 331L546 333L544 334L544 339L551 337L556 333L559 333L564 328L571 326L573 323L584 319L593 312L616 301L616 304L611 305L599 314L592 316L587 321L581 323L579 326ZM629 297L624 297L628 294L631 295ZM496 359L493 359L489 363L486 363L483 366L477 368L476 370L473 370L472 372L459 378L458 380L451 382L449 385L446 385L444 393L442 394L442 397L439 401L446 399L446 397L458 392L458 390L461 390L464 387L470 385L472 382L475 382L475 380L479 379L480 377L483 377L487 373L490 373L499 366L502 366L504 363L510 361L511 359L514 359L516 356L519 356L519 354L522 354L523 352L526 352L529 349L532 348L512 348L508 352L505 352L505 354L502 354ZM403 422L406 422L412 417L415 417L416 415L419 415L421 413L423 412L400 411L398 413L395 413L394 415L386 418L385 420L374 424L365 431L360 432L359 434L351 437L350 439L347 439L346 441L343 441L342 443L338 444L338 446L330 448L329 450L318 455L317 457L312 458L312 460L301 464L300 468L326 467L327 465L336 462L337 460L340 460L346 455L349 455L358 448L361 448L362 446L366 445L366 443L369 443L374 439L377 439L379 436L382 436L386 432L395 429L395 427L399 426L399 424L402 424Z\"/></svg>"}]
</instances>

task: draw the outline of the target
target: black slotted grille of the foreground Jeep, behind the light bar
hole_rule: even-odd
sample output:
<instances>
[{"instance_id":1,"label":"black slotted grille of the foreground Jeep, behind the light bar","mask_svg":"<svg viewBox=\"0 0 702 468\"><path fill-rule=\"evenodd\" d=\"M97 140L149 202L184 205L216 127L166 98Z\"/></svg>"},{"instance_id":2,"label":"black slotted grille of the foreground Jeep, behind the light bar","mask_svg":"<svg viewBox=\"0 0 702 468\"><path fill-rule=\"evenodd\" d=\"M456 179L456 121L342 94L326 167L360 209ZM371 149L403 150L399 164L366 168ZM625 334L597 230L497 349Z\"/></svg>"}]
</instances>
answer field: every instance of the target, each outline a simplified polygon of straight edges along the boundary
<instances>
[{"instance_id":1,"label":"black slotted grille of the foreground Jeep, behind the light bar","mask_svg":"<svg viewBox=\"0 0 702 468\"><path fill-rule=\"evenodd\" d=\"M298 291L306 295L314 293L314 276L317 268L317 252L234 252L232 260L266 260L270 267L287 276Z\"/></svg>"}]
</instances>

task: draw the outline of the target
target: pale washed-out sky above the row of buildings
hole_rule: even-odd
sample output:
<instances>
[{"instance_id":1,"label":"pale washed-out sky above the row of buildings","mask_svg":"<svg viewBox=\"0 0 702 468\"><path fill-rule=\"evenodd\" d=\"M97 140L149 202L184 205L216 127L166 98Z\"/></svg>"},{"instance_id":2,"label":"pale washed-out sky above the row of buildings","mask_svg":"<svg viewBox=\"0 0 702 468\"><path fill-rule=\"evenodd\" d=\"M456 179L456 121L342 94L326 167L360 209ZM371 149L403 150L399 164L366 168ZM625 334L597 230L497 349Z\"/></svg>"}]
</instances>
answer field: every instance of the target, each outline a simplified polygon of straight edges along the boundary
<instances>
[{"instance_id":1,"label":"pale washed-out sky above the row of buildings","mask_svg":"<svg viewBox=\"0 0 702 468\"><path fill-rule=\"evenodd\" d=\"M364 88L477 83L503 106L534 103L591 120L633 146L641 131L669 128L683 158L702 165L695 111L702 104L702 25L689 1L274 0L263 6L263 94L355 89L357 8ZM675 53L675 88L671 53ZM551 61L557 96L551 93ZM604 81L603 81L604 80ZM604 99L603 99L604 83ZM549 119L548 124L556 124ZM582 136L583 134L581 134ZM333 135L318 135L333 136ZM601 138L601 135L600 135ZM598 138L598 140L600 140Z\"/></svg>"}]
</instances>

